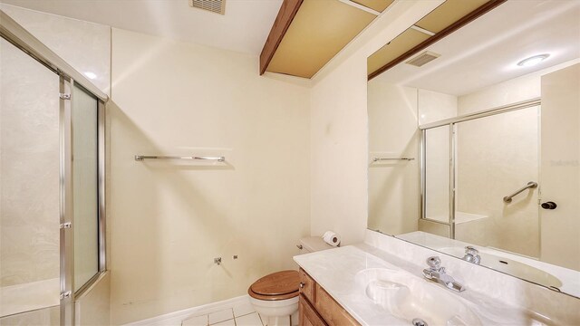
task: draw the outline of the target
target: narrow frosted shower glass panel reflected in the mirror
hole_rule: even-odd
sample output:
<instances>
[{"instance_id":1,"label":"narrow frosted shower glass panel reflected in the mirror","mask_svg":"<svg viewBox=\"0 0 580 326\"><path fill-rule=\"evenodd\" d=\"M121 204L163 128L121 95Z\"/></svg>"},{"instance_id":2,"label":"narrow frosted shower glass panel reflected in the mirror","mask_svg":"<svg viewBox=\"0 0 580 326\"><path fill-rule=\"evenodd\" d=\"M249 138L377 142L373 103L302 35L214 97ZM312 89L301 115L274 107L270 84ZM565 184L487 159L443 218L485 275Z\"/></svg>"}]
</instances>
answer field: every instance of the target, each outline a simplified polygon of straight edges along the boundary
<instances>
[{"instance_id":1,"label":"narrow frosted shower glass panel reflected in the mirror","mask_svg":"<svg viewBox=\"0 0 580 326\"><path fill-rule=\"evenodd\" d=\"M425 130L425 218L449 222L449 126Z\"/></svg>"}]
</instances>

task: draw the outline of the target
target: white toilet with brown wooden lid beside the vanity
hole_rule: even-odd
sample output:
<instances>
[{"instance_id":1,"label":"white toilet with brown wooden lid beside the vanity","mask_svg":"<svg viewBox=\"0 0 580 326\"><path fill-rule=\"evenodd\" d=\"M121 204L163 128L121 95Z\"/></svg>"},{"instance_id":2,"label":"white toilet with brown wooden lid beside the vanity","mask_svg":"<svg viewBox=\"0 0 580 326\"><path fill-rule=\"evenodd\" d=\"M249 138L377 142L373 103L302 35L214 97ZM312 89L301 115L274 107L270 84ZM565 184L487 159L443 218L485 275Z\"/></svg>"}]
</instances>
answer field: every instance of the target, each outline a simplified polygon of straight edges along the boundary
<instances>
[{"instance_id":1,"label":"white toilet with brown wooden lid beside the vanity","mask_svg":"<svg viewBox=\"0 0 580 326\"><path fill-rule=\"evenodd\" d=\"M320 236L300 239L300 254L332 249ZM295 326L298 324L298 295L300 277L297 271L270 273L250 285L247 293L254 310L267 326Z\"/></svg>"}]
</instances>

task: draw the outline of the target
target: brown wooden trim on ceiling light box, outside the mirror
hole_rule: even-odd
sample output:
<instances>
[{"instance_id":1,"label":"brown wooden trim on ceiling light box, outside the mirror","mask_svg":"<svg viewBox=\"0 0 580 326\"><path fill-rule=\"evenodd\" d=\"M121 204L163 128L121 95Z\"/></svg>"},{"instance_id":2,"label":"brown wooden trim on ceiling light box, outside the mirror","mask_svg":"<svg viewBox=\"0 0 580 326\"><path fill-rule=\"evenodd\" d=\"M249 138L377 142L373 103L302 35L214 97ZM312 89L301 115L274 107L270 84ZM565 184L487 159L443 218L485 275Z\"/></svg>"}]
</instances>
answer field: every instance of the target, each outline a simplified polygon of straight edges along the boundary
<instances>
[{"instance_id":1,"label":"brown wooden trim on ceiling light box, outside the mirror","mask_svg":"<svg viewBox=\"0 0 580 326\"><path fill-rule=\"evenodd\" d=\"M284 0L282 3L280 11L275 17L270 34L268 34L262 53L260 53L260 75L266 72L268 64L272 61L278 45L282 42L286 31L288 31L288 27L292 24L292 21L303 1L304 0Z\"/></svg>"}]
</instances>

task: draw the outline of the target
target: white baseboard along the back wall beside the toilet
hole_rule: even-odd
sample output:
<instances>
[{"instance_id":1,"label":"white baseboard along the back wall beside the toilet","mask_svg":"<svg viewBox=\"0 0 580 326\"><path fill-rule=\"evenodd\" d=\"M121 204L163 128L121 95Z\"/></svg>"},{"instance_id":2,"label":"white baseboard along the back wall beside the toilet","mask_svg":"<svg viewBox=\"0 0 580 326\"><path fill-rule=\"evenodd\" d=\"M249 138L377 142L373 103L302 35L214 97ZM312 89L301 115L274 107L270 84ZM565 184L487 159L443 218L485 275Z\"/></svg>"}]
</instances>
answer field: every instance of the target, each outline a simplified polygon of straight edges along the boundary
<instances>
[{"instance_id":1,"label":"white baseboard along the back wall beside the toilet","mask_svg":"<svg viewBox=\"0 0 580 326\"><path fill-rule=\"evenodd\" d=\"M169 312L157 317L149 318L142 321L133 321L124 326L161 326L169 324L181 324L181 321L190 316L196 315L198 312L217 312L222 309L227 309L235 306L237 303L249 302L249 295L242 295L236 298L227 299L221 302L211 302L200 305L198 307L184 309L178 312Z\"/></svg>"}]
</instances>

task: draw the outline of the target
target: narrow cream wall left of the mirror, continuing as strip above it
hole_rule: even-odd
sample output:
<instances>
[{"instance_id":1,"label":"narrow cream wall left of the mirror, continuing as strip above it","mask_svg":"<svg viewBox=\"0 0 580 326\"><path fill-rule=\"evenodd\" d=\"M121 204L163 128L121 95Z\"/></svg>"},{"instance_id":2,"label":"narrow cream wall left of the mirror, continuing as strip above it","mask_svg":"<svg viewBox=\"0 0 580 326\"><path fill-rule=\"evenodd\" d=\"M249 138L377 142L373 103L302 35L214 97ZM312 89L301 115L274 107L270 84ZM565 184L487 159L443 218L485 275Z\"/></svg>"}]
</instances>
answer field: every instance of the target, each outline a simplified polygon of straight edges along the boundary
<instances>
[{"instance_id":1,"label":"narrow cream wall left of the mirror, continuing as strip above it","mask_svg":"<svg viewBox=\"0 0 580 326\"><path fill-rule=\"evenodd\" d=\"M314 76L311 95L312 235L362 241L368 217L366 60L442 1L401 1Z\"/></svg>"}]
</instances>

